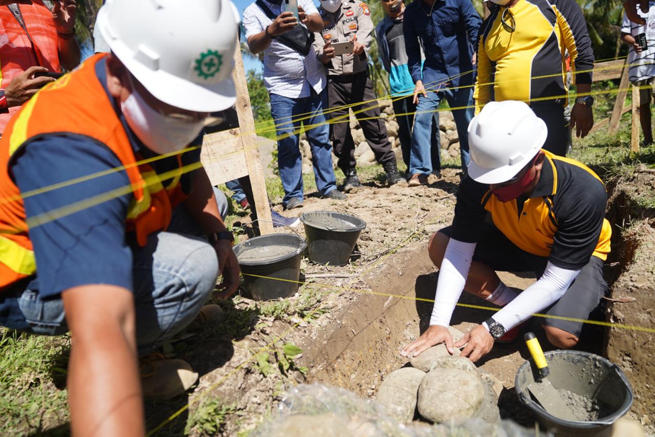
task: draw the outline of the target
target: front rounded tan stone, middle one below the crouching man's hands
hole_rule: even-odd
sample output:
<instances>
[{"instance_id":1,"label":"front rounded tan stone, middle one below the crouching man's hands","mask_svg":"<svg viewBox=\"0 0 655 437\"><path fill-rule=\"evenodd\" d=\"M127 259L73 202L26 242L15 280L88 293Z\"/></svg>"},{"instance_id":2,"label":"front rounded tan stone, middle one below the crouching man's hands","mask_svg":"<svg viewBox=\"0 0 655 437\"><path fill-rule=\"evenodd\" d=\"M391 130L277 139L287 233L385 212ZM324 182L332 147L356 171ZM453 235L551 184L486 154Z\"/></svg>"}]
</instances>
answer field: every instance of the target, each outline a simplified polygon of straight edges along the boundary
<instances>
[{"instance_id":1,"label":"front rounded tan stone, middle one below the crouching man's hands","mask_svg":"<svg viewBox=\"0 0 655 437\"><path fill-rule=\"evenodd\" d=\"M419 385L419 413L434 423L472 417L484 398L485 389L477 372L433 369Z\"/></svg>"}]
</instances>

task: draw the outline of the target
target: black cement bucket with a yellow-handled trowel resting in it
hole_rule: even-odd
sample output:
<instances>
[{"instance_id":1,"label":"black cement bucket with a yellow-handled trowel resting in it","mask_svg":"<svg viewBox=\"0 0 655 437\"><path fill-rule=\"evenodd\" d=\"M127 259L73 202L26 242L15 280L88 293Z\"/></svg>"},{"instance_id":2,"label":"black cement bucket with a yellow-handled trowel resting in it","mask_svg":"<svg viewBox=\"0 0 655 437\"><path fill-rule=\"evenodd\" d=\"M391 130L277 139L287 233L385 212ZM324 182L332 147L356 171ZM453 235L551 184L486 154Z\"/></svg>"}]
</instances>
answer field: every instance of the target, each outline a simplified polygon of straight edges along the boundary
<instances>
[{"instance_id":1,"label":"black cement bucket with a yellow-handled trowel resting in it","mask_svg":"<svg viewBox=\"0 0 655 437\"><path fill-rule=\"evenodd\" d=\"M538 378L536 366L529 360L516 372L514 386L519 400L531 409L544 427L567 436L597 435L632 406L632 387L616 364L589 352L551 351L544 354L550 370L548 379L553 387L572 394L562 396L565 402L569 396L578 400L574 410L591 406L589 410L596 411L591 417L598 416L589 421L567 421L547 413L528 390L528 385Z\"/></svg>"}]
</instances>

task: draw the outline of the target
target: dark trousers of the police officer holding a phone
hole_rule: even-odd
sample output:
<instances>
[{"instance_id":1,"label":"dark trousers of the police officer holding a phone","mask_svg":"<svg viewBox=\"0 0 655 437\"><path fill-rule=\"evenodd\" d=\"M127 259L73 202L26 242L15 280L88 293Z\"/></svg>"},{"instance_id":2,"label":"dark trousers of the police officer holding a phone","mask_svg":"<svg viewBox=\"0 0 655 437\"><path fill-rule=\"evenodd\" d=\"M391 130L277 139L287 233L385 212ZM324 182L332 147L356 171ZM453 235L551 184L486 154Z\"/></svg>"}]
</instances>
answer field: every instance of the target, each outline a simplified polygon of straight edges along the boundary
<instances>
[{"instance_id":1,"label":"dark trousers of the police officer holding a phone","mask_svg":"<svg viewBox=\"0 0 655 437\"><path fill-rule=\"evenodd\" d=\"M391 143L386 133L386 126L380 118L380 107L373 92L373 82L365 71L354 75L330 76L327 81L327 102L330 108L340 107L335 111L329 109L327 118L339 120L330 123L329 137L334 154L339 158L337 165L341 170L345 172L348 168L356 166L355 144L350 134L348 107L341 108L341 106L360 102L365 103L353 105L351 108L362 126L366 142L375 153L375 161L380 164L396 161L396 155L391 150Z\"/></svg>"}]
</instances>

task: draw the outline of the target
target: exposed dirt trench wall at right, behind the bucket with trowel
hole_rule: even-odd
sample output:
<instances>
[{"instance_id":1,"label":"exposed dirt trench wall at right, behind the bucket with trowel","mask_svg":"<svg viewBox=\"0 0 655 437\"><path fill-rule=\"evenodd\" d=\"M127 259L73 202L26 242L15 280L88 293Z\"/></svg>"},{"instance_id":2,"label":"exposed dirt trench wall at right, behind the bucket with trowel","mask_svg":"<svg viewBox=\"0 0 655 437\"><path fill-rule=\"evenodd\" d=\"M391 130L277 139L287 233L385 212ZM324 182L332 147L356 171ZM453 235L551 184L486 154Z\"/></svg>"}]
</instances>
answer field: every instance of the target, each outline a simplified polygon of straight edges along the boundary
<instances>
[{"instance_id":1,"label":"exposed dirt trench wall at right, behind the bucket with trowel","mask_svg":"<svg viewBox=\"0 0 655 437\"><path fill-rule=\"evenodd\" d=\"M607 277L609 322L655 328L655 175L635 172L608 187L612 253ZM633 328L608 328L603 355L626 373L635 395L631 415L655 434L655 335Z\"/></svg>"}]
</instances>

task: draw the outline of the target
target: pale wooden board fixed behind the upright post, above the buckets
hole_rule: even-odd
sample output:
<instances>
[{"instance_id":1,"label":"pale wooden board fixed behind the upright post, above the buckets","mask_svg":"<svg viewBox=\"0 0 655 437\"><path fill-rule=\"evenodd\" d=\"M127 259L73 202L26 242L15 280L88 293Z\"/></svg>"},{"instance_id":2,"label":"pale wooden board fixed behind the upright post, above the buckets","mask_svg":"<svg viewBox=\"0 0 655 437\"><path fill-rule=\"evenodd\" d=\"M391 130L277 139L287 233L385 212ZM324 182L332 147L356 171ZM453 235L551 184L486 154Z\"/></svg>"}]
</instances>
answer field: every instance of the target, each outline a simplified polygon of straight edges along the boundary
<instances>
[{"instance_id":1,"label":"pale wooden board fixed behind the upright post, above the buckets","mask_svg":"<svg viewBox=\"0 0 655 437\"><path fill-rule=\"evenodd\" d=\"M205 135L200 161L212 185L248 176L240 130L236 128Z\"/></svg>"}]
</instances>

